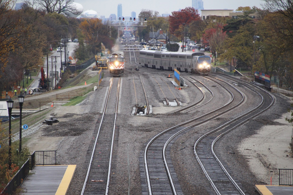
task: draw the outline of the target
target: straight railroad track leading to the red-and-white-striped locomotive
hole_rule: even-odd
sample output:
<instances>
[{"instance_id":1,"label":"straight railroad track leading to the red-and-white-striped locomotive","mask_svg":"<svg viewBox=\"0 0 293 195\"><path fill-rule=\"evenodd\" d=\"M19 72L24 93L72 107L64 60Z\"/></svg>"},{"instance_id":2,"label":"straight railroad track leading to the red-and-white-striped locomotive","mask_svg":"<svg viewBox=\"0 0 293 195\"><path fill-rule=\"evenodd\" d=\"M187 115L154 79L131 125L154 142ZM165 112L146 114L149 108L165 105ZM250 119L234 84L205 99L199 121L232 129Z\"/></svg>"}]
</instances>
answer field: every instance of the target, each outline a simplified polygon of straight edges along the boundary
<instances>
[{"instance_id":1,"label":"straight railroad track leading to the red-and-white-striped locomotive","mask_svg":"<svg viewBox=\"0 0 293 195\"><path fill-rule=\"evenodd\" d=\"M113 86L117 86L111 92ZM91 159L88 171L81 191L83 194L108 194L111 176L111 161L113 152L113 142L115 135L115 122L117 117L118 97L120 88L120 77L112 77L108 89L108 94L103 110L103 115L96 123L96 141L91 152ZM111 95L112 94L112 95ZM113 99L113 98L116 99ZM115 104L115 106L112 106ZM111 108L107 108L107 107Z\"/></svg>"}]
</instances>

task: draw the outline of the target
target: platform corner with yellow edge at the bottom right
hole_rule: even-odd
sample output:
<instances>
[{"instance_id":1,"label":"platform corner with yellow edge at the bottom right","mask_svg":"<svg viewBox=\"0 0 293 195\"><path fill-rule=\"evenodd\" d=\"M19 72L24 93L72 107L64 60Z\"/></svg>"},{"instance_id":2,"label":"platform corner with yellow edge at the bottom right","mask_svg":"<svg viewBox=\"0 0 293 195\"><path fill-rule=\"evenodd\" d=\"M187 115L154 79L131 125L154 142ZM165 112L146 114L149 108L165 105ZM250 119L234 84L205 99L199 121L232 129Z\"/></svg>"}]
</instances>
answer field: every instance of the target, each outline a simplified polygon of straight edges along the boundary
<instances>
[{"instance_id":1,"label":"platform corner with yellow edge at the bottom right","mask_svg":"<svg viewBox=\"0 0 293 195\"><path fill-rule=\"evenodd\" d=\"M293 186L255 185L260 195L292 195Z\"/></svg>"}]
</instances>

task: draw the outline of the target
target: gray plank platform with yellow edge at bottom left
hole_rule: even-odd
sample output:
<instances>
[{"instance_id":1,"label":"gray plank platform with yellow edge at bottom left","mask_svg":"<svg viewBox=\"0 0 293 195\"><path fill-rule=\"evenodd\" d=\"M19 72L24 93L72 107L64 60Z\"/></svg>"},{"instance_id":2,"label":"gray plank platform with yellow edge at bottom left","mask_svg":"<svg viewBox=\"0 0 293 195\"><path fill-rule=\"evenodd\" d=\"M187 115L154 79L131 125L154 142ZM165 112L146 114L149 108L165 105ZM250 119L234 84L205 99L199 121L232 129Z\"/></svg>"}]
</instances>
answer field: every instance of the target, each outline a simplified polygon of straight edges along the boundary
<instances>
[{"instance_id":1,"label":"gray plank platform with yellow edge at bottom left","mask_svg":"<svg viewBox=\"0 0 293 195\"><path fill-rule=\"evenodd\" d=\"M38 165L21 184L20 194L66 194L76 165Z\"/></svg>"}]
</instances>

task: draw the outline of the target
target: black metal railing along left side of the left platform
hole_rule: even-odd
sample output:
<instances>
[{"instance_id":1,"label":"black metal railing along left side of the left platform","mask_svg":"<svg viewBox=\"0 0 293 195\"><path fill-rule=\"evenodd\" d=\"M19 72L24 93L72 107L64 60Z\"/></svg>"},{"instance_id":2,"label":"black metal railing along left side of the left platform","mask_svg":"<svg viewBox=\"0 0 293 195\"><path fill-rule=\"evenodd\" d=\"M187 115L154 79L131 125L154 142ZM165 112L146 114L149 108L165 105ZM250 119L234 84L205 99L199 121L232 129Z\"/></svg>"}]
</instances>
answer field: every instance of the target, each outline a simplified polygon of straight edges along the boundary
<instances>
[{"instance_id":1,"label":"black metal railing along left side of the left platform","mask_svg":"<svg viewBox=\"0 0 293 195\"><path fill-rule=\"evenodd\" d=\"M30 172L30 160L28 159L22 167L18 170L18 172L14 175L14 177L10 180L10 182L6 185L4 190L0 194L13 194L13 191L21 185L23 180L28 176Z\"/></svg>"}]
</instances>

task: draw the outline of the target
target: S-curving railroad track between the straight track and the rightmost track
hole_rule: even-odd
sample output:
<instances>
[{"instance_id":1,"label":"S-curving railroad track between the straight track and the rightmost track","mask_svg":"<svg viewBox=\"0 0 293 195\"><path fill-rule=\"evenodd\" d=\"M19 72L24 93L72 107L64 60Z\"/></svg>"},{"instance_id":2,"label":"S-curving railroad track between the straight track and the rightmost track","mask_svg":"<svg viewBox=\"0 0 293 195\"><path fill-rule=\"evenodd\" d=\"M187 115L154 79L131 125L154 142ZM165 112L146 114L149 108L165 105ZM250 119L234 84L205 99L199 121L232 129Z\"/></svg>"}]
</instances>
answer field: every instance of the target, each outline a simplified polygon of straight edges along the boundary
<instances>
[{"instance_id":1,"label":"S-curving railroad track between the straight track and the rightmost track","mask_svg":"<svg viewBox=\"0 0 293 195\"><path fill-rule=\"evenodd\" d=\"M171 162L171 145L183 132L187 132L197 125L207 122L213 118L216 118L219 115L222 115L223 113L226 113L234 109L244 101L244 97L242 95L242 100L236 105L224 111L221 111L213 116L209 116L212 113L215 113L223 108L226 108L234 101L233 93L225 87L224 89L231 94L231 100L224 106L221 106L213 111L210 111L209 113L201 115L182 124L171 127L156 135L153 139L151 139L151 141L149 141L146 148L144 149L144 153L142 155L143 158L140 158L140 166L144 168L144 170L142 170L141 168L143 194L183 194L180 184L178 182L176 172L173 169L173 165ZM239 90L236 89L236 91L241 94ZM198 119L201 119L201 121L189 127L183 127L184 125L187 125Z\"/></svg>"}]
</instances>

